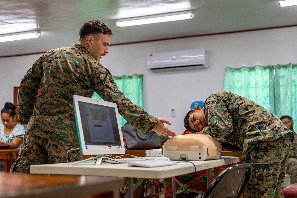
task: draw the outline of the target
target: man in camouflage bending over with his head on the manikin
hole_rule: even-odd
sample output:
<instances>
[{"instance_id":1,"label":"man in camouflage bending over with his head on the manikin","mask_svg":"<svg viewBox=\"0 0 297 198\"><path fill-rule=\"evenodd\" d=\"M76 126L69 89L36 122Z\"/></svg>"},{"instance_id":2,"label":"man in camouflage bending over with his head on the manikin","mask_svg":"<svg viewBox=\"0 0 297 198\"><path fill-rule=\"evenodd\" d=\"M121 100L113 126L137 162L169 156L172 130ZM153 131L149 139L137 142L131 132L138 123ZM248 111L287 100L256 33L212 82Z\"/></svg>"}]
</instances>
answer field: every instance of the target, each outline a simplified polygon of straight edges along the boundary
<instances>
[{"instance_id":1,"label":"man in camouflage bending over with his head on the manikin","mask_svg":"<svg viewBox=\"0 0 297 198\"><path fill-rule=\"evenodd\" d=\"M244 197L280 197L294 134L274 114L249 99L219 92L206 99L203 109L187 113L184 125L191 132L223 137L222 148L242 152L254 168Z\"/></svg>"}]
</instances>

